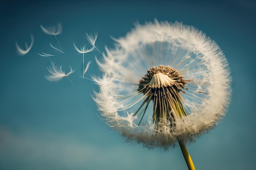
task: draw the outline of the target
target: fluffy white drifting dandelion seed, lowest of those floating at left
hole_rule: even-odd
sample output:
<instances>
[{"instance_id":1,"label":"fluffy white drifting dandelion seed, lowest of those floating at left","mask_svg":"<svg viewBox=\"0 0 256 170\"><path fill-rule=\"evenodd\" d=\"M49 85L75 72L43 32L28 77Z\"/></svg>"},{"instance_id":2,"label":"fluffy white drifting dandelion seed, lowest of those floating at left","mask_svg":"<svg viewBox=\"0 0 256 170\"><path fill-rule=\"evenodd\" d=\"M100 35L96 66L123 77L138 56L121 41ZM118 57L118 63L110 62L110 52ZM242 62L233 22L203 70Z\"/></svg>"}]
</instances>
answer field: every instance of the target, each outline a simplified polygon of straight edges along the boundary
<instances>
[{"instance_id":1,"label":"fluffy white drifting dandelion seed, lowest of those floating at left","mask_svg":"<svg viewBox=\"0 0 256 170\"><path fill-rule=\"evenodd\" d=\"M60 67L58 68L54 62L52 62L52 67L49 66L47 67L47 70L51 73L49 75L45 75L45 79L47 79L49 82L58 82L60 81L61 79L63 79L63 77L67 77L67 79L69 79L69 81L74 85L74 83L71 81L71 79L68 77L70 74L74 73L74 71L76 69L72 69L70 67L70 72L65 74L65 71L62 70L61 68L61 65Z\"/></svg>"}]
</instances>

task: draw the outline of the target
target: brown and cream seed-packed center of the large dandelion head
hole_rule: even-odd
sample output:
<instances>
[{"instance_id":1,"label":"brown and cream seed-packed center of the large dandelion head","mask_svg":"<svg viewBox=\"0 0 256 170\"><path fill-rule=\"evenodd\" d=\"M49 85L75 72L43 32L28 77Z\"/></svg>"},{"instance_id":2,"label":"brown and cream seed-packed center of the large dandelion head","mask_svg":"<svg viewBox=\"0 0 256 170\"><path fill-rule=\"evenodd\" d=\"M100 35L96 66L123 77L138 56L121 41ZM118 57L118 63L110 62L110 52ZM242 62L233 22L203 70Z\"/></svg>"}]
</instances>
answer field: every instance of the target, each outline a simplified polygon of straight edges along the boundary
<instances>
[{"instance_id":1,"label":"brown and cream seed-packed center of the large dandelion head","mask_svg":"<svg viewBox=\"0 0 256 170\"><path fill-rule=\"evenodd\" d=\"M180 95L180 91L185 93L183 88L186 88L184 85L187 80L183 78L171 66L160 65L158 67L151 67L147 74L139 81L138 91L143 92L147 97L141 107L139 107L140 109L135 112L135 115L139 113L139 110L144 105L145 108L143 110L146 111L148 103L152 100L153 121L158 126L163 126L168 122L173 125L176 118L186 116L187 113L182 104L183 98ZM144 114L141 119L143 116Z\"/></svg>"}]
</instances>

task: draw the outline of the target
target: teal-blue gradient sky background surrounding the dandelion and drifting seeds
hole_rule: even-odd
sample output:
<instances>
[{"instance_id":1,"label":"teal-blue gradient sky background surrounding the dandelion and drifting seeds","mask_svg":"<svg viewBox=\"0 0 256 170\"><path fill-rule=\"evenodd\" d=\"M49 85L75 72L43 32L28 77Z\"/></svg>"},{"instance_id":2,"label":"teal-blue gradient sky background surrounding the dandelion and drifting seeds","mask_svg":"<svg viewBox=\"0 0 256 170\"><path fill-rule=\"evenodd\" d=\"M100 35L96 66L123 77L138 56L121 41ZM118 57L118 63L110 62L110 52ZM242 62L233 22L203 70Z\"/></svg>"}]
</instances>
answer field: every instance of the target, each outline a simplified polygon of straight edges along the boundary
<instances>
[{"instance_id":1,"label":"teal-blue gradient sky background surrounding the dandelion and drifting seeds","mask_svg":"<svg viewBox=\"0 0 256 170\"><path fill-rule=\"evenodd\" d=\"M233 77L229 111L219 126L187 148L197 170L255 170L256 166L256 3L223 1L0 1L0 170L186 170L180 148L164 152L125 143L98 117L91 95L98 87L79 77L82 55L73 42L88 44L85 31L98 32L96 45L114 47L110 36L125 36L135 22L168 20L193 25L215 40L225 53ZM40 25L61 22L57 35ZM34 46L18 55L15 42ZM37 53L55 56L42 57ZM92 61L88 73L101 75L98 51L85 54ZM76 68L70 75L48 82L51 61Z\"/></svg>"}]
</instances>

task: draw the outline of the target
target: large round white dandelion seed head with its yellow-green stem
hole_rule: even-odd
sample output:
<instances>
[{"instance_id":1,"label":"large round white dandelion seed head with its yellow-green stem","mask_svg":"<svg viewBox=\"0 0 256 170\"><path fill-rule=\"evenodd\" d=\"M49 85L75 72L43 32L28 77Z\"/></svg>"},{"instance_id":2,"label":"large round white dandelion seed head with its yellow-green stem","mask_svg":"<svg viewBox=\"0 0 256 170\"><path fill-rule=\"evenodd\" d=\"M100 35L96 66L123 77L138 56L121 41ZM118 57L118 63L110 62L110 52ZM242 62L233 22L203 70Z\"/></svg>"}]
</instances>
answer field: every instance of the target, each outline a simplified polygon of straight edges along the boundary
<instances>
[{"instance_id":1,"label":"large round white dandelion seed head with its yellow-green stem","mask_svg":"<svg viewBox=\"0 0 256 170\"><path fill-rule=\"evenodd\" d=\"M219 46L193 26L137 24L97 63L103 77L94 100L106 124L126 141L168 150L215 128L231 96L231 76Z\"/></svg>"}]
</instances>

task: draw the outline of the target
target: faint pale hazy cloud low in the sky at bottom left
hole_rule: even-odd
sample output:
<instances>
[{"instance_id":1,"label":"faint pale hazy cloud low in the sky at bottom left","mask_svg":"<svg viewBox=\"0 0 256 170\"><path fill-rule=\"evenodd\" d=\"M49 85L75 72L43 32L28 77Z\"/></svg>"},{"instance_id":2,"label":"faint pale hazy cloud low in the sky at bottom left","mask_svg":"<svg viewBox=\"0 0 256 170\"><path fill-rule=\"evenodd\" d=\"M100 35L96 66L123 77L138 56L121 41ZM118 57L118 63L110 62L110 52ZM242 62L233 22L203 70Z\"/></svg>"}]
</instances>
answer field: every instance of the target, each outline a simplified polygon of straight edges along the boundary
<instances>
[{"instance_id":1,"label":"faint pale hazy cloud low in the sky at bottom left","mask_svg":"<svg viewBox=\"0 0 256 170\"><path fill-rule=\"evenodd\" d=\"M148 155L148 151L137 152L128 145L97 146L97 141L88 143L79 141L72 135L58 135L51 132L22 131L11 132L0 129L0 168L19 170L130 170L154 168L158 164L148 162L148 159L168 161L175 157ZM135 154L136 152L136 154ZM146 155L143 159L143 155ZM111 157L110 157L111 155ZM138 161L140 160L140 161ZM145 164L145 162L148 162ZM154 165L155 164L155 165Z\"/></svg>"}]
</instances>

